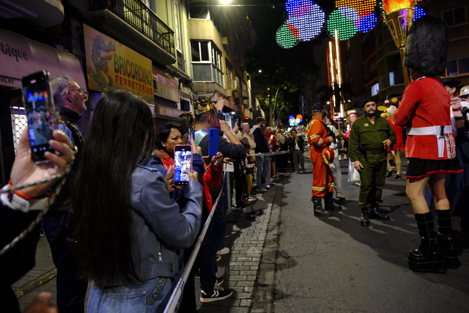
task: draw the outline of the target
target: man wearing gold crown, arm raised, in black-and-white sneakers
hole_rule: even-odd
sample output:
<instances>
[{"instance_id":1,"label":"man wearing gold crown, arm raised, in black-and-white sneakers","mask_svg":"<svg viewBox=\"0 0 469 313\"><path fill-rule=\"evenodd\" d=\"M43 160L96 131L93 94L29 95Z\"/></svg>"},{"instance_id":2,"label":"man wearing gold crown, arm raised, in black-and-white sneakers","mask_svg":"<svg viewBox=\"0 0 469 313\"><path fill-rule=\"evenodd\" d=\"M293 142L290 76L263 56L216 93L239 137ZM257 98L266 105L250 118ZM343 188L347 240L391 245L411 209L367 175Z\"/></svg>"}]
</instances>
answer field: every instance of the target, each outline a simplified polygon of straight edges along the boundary
<instances>
[{"instance_id":1,"label":"man wearing gold crown, arm raised, in black-and-white sneakers","mask_svg":"<svg viewBox=\"0 0 469 313\"><path fill-rule=\"evenodd\" d=\"M192 106L194 107L194 116L196 119L196 126L194 127L195 141L198 146L202 149L202 156L208 154L208 138L209 129L217 128L219 123L219 129L223 132L230 142L219 136L219 152L224 157L243 160L246 157L246 150L241 142L231 132L227 122L223 120L217 120L217 112L214 110L212 99L210 97L199 97L193 99ZM221 134L220 134L221 135ZM186 142L188 140L187 134L184 136ZM223 281L217 278L217 251L222 243L222 238L225 237L225 225L226 225L226 209L227 209L227 188L226 185L222 189L222 186L210 188L210 194L212 199L216 199L220 192L220 200L215 212L212 217L212 221L209 224L207 233L205 234L204 241L199 251L199 264L200 264L200 302L213 302L229 298L233 295L233 291L230 289L223 289L218 284ZM202 221L204 223L204 221Z\"/></svg>"}]
</instances>

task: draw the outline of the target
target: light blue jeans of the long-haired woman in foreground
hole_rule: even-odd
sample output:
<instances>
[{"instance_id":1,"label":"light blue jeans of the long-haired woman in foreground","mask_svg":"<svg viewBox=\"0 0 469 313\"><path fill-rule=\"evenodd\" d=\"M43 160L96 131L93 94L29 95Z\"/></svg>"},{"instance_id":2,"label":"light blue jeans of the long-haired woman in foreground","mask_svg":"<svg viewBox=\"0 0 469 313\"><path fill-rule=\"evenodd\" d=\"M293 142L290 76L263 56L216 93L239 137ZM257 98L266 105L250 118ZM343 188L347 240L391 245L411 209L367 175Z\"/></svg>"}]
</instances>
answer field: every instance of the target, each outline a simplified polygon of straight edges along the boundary
<instances>
[{"instance_id":1,"label":"light blue jeans of the long-haired woman in foreground","mask_svg":"<svg viewBox=\"0 0 469 313\"><path fill-rule=\"evenodd\" d=\"M174 282L170 278L164 287L161 286L163 290L156 301L147 304L147 298L151 297L159 278L155 277L139 286L106 287L102 290L93 282L88 297L88 313L163 312L174 289Z\"/></svg>"}]
</instances>

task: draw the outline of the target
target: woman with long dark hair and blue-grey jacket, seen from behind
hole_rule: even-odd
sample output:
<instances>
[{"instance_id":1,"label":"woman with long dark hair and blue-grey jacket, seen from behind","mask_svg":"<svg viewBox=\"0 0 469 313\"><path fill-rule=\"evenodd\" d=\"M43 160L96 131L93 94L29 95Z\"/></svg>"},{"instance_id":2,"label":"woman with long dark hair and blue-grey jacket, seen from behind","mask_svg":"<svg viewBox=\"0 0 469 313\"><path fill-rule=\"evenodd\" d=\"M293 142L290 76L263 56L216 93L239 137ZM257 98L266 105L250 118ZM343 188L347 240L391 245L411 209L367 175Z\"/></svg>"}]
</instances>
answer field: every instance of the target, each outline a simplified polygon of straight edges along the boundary
<instances>
[{"instance_id":1,"label":"woman with long dark hair and blue-grey jacket, seen from behind","mask_svg":"<svg viewBox=\"0 0 469 313\"><path fill-rule=\"evenodd\" d=\"M88 312L163 312L179 249L191 246L200 229L197 176L186 172L180 208L165 177L141 166L152 148L151 111L143 100L123 91L98 100L72 198L76 256L82 277L93 281Z\"/></svg>"}]
</instances>

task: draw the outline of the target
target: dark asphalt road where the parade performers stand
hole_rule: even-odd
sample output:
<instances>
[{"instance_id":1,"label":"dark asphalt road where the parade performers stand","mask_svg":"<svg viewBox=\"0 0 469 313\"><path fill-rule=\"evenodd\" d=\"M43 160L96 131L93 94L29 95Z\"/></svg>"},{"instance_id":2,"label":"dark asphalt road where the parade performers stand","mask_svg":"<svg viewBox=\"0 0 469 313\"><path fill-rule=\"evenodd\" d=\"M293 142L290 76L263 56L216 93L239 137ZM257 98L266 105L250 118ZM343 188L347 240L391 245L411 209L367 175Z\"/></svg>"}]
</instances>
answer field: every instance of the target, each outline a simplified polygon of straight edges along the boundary
<instances>
[{"instance_id":1,"label":"dark asphalt road where the parade performers stand","mask_svg":"<svg viewBox=\"0 0 469 313\"><path fill-rule=\"evenodd\" d=\"M408 250L420 239L405 180L386 179L381 207L391 220L363 227L347 161L340 162L344 210L321 219L313 215L312 166L305 163L307 174L285 179L273 312L469 312L468 250L461 268L446 274L408 269ZM460 229L457 218L453 229Z\"/></svg>"}]
</instances>

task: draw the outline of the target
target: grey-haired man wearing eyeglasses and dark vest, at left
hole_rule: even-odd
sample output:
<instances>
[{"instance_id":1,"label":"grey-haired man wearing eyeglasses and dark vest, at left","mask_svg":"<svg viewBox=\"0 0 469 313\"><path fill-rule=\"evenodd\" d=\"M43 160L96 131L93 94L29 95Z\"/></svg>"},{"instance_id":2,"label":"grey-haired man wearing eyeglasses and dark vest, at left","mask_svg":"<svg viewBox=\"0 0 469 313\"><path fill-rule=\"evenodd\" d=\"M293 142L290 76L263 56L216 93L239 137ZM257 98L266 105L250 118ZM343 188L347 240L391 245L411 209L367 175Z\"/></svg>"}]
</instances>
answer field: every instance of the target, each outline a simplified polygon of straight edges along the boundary
<instances>
[{"instance_id":1,"label":"grey-haired man wearing eyeglasses and dark vest, at left","mask_svg":"<svg viewBox=\"0 0 469 313\"><path fill-rule=\"evenodd\" d=\"M86 110L85 92L70 76L57 76L51 80L55 110L59 112L63 124L58 129L63 130L72 144L78 148L72 170L68 175L61 193L50 207L42 220L45 237L51 247L52 259L57 267L57 307L59 312L83 313L84 301L88 282L79 280L78 263L73 253L73 211L70 187L76 175L80 159L80 150L84 143L83 135L76 122L81 118L81 112Z\"/></svg>"}]
</instances>

